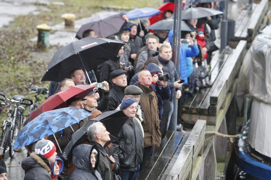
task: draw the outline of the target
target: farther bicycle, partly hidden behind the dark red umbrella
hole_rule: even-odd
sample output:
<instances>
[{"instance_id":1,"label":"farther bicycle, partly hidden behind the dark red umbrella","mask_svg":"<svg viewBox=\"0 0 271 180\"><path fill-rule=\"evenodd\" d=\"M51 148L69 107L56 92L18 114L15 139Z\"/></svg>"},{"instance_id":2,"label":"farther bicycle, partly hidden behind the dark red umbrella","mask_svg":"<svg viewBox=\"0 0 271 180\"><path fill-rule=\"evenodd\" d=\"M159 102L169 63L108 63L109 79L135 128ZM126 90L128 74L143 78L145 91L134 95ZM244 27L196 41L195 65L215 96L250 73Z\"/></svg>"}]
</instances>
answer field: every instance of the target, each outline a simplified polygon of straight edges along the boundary
<instances>
[{"instance_id":1,"label":"farther bicycle, partly hidden behind the dark red umbrella","mask_svg":"<svg viewBox=\"0 0 271 180\"><path fill-rule=\"evenodd\" d=\"M31 104L31 105L25 106L25 110L23 112L23 115L25 116L26 120L25 120L25 124L24 125L26 125L29 122L32 112L37 107L39 107L39 104L38 104L38 102L40 101L39 95L40 94L46 95L45 99L47 99L48 98L48 94L49 94L49 91L48 91L47 88L40 88L39 86L33 86L33 87L31 87L31 84L32 83L29 84L29 86L30 86L29 89L31 90L30 93L31 94L36 93L36 95L35 95L34 103Z\"/></svg>"}]
</instances>

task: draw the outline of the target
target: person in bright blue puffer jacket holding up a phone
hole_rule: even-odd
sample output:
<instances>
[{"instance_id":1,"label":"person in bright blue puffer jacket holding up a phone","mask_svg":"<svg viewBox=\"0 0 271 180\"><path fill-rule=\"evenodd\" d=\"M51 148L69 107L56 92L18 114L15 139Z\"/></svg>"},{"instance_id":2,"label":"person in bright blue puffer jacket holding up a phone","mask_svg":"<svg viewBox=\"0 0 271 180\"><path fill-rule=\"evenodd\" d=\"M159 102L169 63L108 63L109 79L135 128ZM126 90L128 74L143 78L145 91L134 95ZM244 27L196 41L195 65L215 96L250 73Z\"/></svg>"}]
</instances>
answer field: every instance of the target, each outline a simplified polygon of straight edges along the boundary
<instances>
[{"instance_id":1,"label":"person in bright blue puffer jacket holding up a phone","mask_svg":"<svg viewBox=\"0 0 271 180\"><path fill-rule=\"evenodd\" d=\"M173 30L170 30L168 33L168 41L172 43ZM185 80L183 84L187 84L187 57L194 57L199 54L199 49L197 45L193 42L192 38L187 38L189 40L188 47L185 47L183 44L180 46L180 62L179 62L179 73L182 80Z\"/></svg>"}]
</instances>

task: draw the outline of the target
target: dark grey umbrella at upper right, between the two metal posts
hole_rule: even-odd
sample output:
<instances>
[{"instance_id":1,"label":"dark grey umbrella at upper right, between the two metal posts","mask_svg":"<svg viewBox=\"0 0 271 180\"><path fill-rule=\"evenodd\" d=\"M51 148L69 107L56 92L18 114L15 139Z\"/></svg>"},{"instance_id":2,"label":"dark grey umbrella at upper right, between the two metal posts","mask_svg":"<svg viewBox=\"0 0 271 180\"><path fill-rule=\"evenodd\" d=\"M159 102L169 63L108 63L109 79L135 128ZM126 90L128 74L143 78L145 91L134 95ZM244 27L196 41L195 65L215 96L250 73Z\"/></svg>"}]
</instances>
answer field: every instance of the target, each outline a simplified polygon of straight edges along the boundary
<instances>
[{"instance_id":1,"label":"dark grey umbrella at upper right, between the two metal posts","mask_svg":"<svg viewBox=\"0 0 271 180\"><path fill-rule=\"evenodd\" d=\"M198 19L218 14L223 14L223 12L205 7L191 7L182 10L182 20Z\"/></svg>"}]
</instances>

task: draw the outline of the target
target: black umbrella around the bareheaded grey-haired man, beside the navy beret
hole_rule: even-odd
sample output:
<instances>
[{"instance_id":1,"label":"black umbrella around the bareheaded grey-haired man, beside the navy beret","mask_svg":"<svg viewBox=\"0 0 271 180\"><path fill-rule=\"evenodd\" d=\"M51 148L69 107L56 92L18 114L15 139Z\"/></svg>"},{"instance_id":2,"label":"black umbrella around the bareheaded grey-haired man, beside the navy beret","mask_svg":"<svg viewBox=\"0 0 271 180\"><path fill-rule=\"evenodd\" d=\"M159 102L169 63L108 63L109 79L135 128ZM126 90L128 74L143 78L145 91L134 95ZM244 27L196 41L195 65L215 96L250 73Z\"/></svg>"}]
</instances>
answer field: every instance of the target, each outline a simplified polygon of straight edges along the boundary
<instances>
[{"instance_id":1,"label":"black umbrella around the bareheaded grey-haired man, beside the navy beret","mask_svg":"<svg viewBox=\"0 0 271 180\"><path fill-rule=\"evenodd\" d=\"M122 110L106 111L98 117L89 119L80 129L78 129L72 135L71 141L65 147L64 152L66 154L69 154L74 144L87 132L87 128L97 121L102 122L105 125L106 130L110 132L109 136L111 140L104 145L104 147L106 147L108 144L116 140L116 138L118 137L118 133L121 131L121 128L123 127L127 119L128 117L123 113Z\"/></svg>"}]
</instances>

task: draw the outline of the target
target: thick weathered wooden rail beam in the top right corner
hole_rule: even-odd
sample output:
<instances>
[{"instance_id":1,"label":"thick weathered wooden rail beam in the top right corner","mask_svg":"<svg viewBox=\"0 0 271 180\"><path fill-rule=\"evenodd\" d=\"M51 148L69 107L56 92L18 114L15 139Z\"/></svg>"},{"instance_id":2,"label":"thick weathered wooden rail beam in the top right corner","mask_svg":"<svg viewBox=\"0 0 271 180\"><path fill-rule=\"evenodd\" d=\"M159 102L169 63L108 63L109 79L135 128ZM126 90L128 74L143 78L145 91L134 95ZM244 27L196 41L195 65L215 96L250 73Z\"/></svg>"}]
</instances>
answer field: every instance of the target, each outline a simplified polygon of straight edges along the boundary
<instances>
[{"instance_id":1,"label":"thick weathered wooden rail beam in the top right corner","mask_svg":"<svg viewBox=\"0 0 271 180\"><path fill-rule=\"evenodd\" d=\"M247 26L248 37L247 41L252 42L258 33L261 22L268 11L268 0L261 0L261 2L254 9L249 24Z\"/></svg>"}]
</instances>

